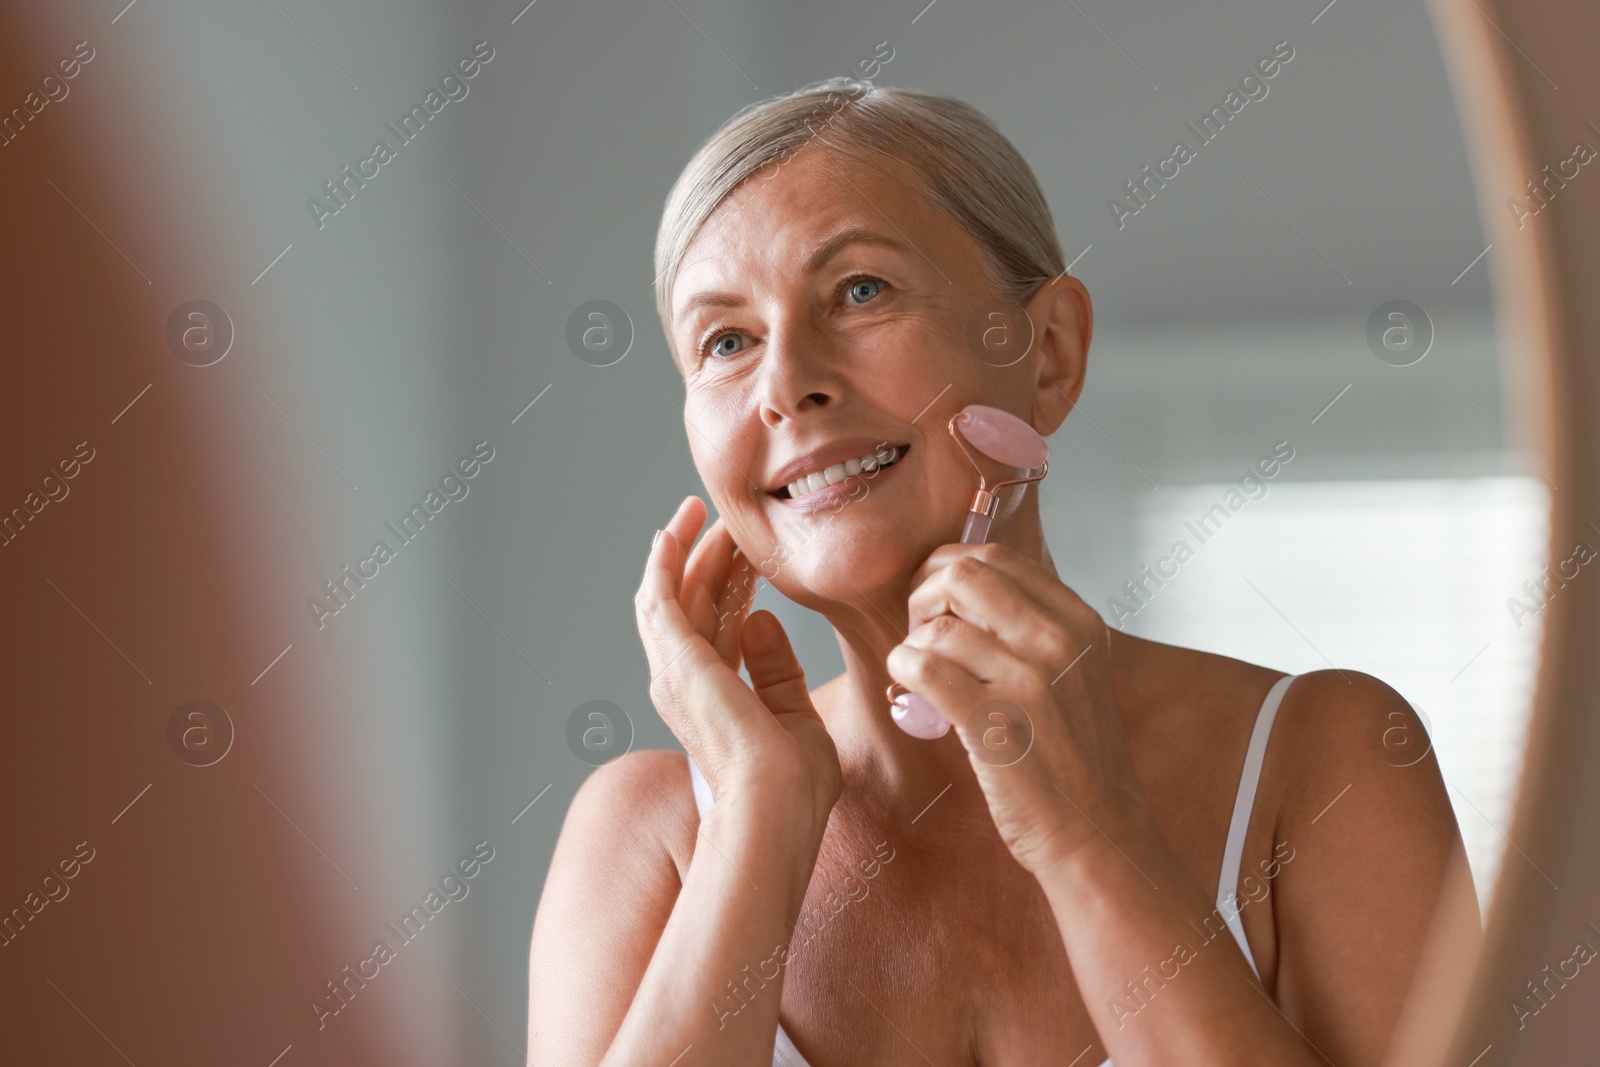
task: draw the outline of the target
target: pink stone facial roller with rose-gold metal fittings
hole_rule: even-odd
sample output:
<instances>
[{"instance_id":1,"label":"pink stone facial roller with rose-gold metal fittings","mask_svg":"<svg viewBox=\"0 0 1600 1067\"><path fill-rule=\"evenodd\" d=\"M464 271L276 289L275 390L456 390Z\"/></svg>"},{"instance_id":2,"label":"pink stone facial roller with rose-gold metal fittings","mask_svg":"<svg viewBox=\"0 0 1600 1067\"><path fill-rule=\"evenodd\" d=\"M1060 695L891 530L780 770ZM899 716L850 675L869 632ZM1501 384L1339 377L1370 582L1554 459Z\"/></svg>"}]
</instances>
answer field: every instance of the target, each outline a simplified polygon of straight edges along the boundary
<instances>
[{"instance_id":1,"label":"pink stone facial roller with rose-gold metal fittings","mask_svg":"<svg viewBox=\"0 0 1600 1067\"><path fill-rule=\"evenodd\" d=\"M1010 485L1027 486L1027 483L1038 482L1050 474L1050 445L1034 427L1010 411L979 403L966 405L950 416L950 437L966 456L966 462L978 472L978 491L966 510L962 544L982 544L989 539L989 528L1000 509L997 491ZM984 469L973 456L974 448L987 459L1010 467L1013 474L1021 470L1022 477L1003 478L990 485ZM949 733L950 720L901 683L896 681L888 688L888 697L890 717L912 737L933 739Z\"/></svg>"}]
</instances>

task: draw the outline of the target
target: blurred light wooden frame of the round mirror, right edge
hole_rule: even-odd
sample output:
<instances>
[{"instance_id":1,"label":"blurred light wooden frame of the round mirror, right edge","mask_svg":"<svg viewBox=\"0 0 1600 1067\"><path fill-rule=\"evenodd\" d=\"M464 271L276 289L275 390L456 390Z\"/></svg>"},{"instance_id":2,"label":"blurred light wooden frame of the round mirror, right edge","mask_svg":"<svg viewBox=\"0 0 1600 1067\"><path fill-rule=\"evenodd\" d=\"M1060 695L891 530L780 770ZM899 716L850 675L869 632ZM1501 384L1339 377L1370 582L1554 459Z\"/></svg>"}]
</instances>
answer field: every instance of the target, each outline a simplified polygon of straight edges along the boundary
<instances>
[{"instance_id":1,"label":"blurred light wooden frame of the round mirror, right edge","mask_svg":"<svg viewBox=\"0 0 1600 1067\"><path fill-rule=\"evenodd\" d=\"M1600 336L1594 298L1600 291L1600 179L1590 179L1592 192L1574 190L1558 205L1552 198L1552 210L1522 229L1506 198L1523 194L1523 182L1539 178L1546 162L1568 158L1574 139L1600 142L1586 125L1600 120L1600 112L1582 112L1584 101L1600 101L1600 64L1587 54L1600 40L1600 5L1429 0L1429 10L1494 253L1488 259L1504 378L1507 397L1520 408L1512 419L1526 427L1523 437L1557 486L1547 553L1557 560L1579 530L1600 520L1600 424L1594 416L1600 374L1592 360L1581 358ZM1600 707L1600 656L1592 654L1600 582L1571 582L1542 614L1526 755L1512 822L1504 827L1528 859L1522 862L1507 846L1480 953L1438 937L1429 945L1389 1064L1531 1065L1579 1062L1581 1049L1594 1054L1595 1013L1576 1009L1576 1001L1594 1003L1600 984L1573 997L1566 1011L1542 1017L1526 1037L1507 1009L1507 992L1520 993L1523 979L1563 960L1570 937L1590 918L1600 920L1600 905L1586 910L1600 901L1600 849L1594 848L1600 774L1587 771L1600 763L1600 731L1586 713ZM1440 907L1459 907L1459 899L1442 899ZM1491 1049L1498 1054L1488 1057Z\"/></svg>"}]
</instances>

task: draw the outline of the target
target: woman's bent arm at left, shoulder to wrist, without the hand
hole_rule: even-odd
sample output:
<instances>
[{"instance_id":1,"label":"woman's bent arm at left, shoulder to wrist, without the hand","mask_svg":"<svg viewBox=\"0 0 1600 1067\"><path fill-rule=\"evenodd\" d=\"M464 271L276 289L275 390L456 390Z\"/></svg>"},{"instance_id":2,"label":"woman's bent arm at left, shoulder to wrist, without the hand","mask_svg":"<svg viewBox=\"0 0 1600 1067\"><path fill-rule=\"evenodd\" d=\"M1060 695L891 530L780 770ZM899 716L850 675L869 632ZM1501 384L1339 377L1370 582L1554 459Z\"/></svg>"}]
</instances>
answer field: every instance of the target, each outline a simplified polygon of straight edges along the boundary
<instances>
[{"instance_id":1,"label":"woman's bent arm at left, shoulder to wrist, without the hand","mask_svg":"<svg viewBox=\"0 0 1600 1067\"><path fill-rule=\"evenodd\" d=\"M533 926L534 1064L771 1059L792 925L816 861L790 801L726 795L693 838L683 757L637 752L595 771L568 811ZM688 821L688 825L686 825Z\"/></svg>"}]
</instances>

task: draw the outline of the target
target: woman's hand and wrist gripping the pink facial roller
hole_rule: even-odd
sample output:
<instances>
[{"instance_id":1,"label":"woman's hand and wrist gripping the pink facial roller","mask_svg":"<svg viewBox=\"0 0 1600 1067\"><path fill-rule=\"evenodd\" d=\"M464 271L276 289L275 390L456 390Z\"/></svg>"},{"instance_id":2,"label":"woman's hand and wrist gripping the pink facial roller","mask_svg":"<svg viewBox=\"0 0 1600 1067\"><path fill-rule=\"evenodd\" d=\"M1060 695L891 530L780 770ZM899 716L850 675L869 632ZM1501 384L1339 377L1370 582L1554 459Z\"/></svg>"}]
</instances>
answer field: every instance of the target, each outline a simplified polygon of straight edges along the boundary
<instances>
[{"instance_id":1,"label":"woman's hand and wrist gripping the pink facial roller","mask_svg":"<svg viewBox=\"0 0 1600 1067\"><path fill-rule=\"evenodd\" d=\"M1003 544L942 545L914 581L890 675L955 726L1016 861L1038 877L1138 824L1099 613Z\"/></svg>"}]
</instances>

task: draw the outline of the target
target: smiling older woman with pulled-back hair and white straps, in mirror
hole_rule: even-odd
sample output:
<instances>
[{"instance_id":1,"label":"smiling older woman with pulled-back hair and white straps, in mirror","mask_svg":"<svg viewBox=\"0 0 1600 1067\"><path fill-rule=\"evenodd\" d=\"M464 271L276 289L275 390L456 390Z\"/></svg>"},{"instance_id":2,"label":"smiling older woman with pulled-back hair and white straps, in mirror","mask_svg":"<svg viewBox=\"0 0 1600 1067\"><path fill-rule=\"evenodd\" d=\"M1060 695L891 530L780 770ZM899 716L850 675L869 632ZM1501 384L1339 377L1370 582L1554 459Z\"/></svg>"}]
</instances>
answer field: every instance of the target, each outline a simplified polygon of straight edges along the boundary
<instances>
[{"instance_id":1,"label":"smiling older woman with pulled-back hair and white straps, in mirror","mask_svg":"<svg viewBox=\"0 0 1600 1067\"><path fill-rule=\"evenodd\" d=\"M1010 141L848 80L752 106L680 176L656 267L718 514L678 507L635 598L690 758L573 800L531 1062L1376 1064L1461 864L1434 758L1384 747L1421 736L1405 701L1110 630L1037 493L954 544L947 421L1054 434L1091 334ZM974 350L1021 312L1021 355ZM757 576L845 673L808 689ZM954 729L904 733L891 683Z\"/></svg>"}]
</instances>

